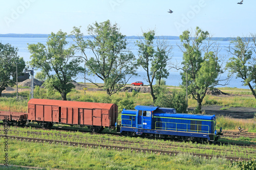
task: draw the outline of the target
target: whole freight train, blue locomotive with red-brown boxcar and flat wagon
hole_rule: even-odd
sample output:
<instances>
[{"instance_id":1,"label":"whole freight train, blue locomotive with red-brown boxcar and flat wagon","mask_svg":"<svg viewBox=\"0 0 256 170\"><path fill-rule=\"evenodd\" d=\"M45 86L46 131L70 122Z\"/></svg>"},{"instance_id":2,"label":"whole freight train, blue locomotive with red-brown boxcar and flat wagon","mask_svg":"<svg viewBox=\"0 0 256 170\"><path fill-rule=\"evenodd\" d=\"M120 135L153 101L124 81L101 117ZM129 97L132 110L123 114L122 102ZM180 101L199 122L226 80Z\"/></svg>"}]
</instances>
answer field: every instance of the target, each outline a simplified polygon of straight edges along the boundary
<instances>
[{"instance_id":1,"label":"whole freight train, blue locomotive with red-brown boxcar and flat wagon","mask_svg":"<svg viewBox=\"0 0 256 170\"><path fill-rule=\"evenodd\" d=\"M36 122L42 128L58 125L87 126L94 133L104 128L117 129L122 135L170 138L195 141L217 141L215 115L176 113L174 108L136 106L123 109L117 125L116 104L31 99L28 113L0 111L0 119L8 125Z\"/></svg>"}]
</instances>

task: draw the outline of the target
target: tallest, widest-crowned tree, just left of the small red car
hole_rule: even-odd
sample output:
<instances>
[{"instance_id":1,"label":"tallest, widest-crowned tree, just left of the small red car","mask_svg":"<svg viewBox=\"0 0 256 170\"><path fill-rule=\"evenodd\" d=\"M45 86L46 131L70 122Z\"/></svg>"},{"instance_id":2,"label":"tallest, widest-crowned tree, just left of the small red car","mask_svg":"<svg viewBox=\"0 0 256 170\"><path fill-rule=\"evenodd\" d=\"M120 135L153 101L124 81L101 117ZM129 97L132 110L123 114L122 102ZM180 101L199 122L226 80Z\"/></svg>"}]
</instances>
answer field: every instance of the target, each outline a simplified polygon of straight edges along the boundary
<instances>
[{"instance_id":1,"label":"tallest, widest-crowned tree, just left of the small red car","mask_svg":"<svg viewBox=\"0 0 256 170\"><path fill-rule=\"evenodd\" d=\"M99 88L106 89L106 93L112 95L124 87L130 78L136 74L136 58L127 49L127 41L120 33L118 25L111 24L110 20L88 26L88 34L92 39L84 40L80 28L74 27L72 31L76 47L82 52L89 75L95 75L104 84L87 78L88 81ZM89 56L86 50L90 50L93 56Z\"/></svg>"}]
</instances>

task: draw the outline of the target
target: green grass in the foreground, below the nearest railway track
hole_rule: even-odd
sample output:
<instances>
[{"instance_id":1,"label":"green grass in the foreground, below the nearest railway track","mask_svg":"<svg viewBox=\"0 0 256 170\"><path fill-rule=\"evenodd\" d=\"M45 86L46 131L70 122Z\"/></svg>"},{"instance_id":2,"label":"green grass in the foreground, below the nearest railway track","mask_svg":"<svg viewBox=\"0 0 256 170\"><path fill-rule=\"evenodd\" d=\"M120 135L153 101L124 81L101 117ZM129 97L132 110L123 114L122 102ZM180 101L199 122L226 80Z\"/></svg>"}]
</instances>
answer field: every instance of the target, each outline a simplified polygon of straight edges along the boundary
<instances>
[{"instance_id":1,"label":"green grass in the foreground, below the nearest railway track","mask_svg":"<svg viewBox=\"0 0 256 170\"><path fill-rule=\"evenodd\" d=\"M0 139L0 148L3 148ZM234 169L225 159L164 156L9 139L9 164L58 169ZM5 168L5 167L4 167Z\"/></svg>"}]
</instances>

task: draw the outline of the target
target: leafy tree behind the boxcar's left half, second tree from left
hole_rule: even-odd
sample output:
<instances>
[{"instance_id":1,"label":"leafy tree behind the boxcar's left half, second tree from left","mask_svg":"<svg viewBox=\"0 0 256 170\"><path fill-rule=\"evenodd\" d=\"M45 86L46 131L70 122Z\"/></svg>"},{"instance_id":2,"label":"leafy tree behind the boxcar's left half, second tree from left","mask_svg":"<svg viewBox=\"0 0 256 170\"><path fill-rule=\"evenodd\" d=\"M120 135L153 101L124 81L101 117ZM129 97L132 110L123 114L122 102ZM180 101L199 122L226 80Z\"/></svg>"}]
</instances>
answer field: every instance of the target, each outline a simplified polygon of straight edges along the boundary
<instances>
[{"instance_id":1,"label":"leafy tree behind the boxcar's left half, second tree from left","mask_svg":"<svg viewBox=\"0 0 256 170\"><path fill-rule=\"evenodd\" d=\"M83 67L79 66L82 62L80 58L75 58L75 48L66 48L67 33L61 30L51 33L46 45L42 43L29 44L28 49L31 53L32 67L40 68L42 74L46 76L45 87L50 90L57 90L61 94L62 100L67 100L67 94L75 86L71 83L79 72L83 72Z\"/></svg>"}]
</instances>

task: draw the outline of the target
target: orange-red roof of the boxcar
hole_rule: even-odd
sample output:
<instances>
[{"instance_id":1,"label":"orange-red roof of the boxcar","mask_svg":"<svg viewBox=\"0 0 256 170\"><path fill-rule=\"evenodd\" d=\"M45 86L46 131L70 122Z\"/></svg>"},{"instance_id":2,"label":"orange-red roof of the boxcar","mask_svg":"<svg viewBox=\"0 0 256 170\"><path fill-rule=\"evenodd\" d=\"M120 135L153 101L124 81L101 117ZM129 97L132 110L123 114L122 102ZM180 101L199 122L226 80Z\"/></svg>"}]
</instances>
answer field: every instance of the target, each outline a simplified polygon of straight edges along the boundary
<instances>
[{"instance_id":1,"label":"orange-red roof of the boxcar","mask_svg":"<svg viewBox=\"0 0 256 170\"><path fill-rule=\"evenodd\" d=\"M88 109L110 109L113 105L115 105L115 104L109 104L109 103L59 101L59 100L49 100L49 99L30 99L28 104L88 108Z\"/></svg>"}]
</instances>

